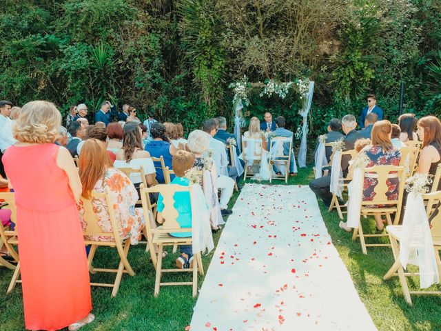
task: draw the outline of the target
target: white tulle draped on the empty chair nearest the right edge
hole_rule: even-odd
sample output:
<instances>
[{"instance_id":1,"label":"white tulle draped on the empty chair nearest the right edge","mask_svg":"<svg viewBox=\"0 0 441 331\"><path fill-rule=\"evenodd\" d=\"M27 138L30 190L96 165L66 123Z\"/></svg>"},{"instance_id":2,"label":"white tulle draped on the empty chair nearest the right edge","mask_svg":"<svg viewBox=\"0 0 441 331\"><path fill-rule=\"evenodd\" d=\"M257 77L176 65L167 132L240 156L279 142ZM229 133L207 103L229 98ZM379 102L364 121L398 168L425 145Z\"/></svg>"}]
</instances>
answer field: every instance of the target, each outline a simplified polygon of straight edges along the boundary
<instances>
[{"instance_id":1,"label":"white tulle draped on the empty chair nearest the right edge","mask_svg":"<svg viewBox=\"0 0 441 331\"><path fill-rule=\"evenodd\" d=\"M404 269L407 263L418 265L420 288L439 283L429 221L420 193L409 192L407 196L400 236L400 263Z\"/></svg>"}]
</instances>

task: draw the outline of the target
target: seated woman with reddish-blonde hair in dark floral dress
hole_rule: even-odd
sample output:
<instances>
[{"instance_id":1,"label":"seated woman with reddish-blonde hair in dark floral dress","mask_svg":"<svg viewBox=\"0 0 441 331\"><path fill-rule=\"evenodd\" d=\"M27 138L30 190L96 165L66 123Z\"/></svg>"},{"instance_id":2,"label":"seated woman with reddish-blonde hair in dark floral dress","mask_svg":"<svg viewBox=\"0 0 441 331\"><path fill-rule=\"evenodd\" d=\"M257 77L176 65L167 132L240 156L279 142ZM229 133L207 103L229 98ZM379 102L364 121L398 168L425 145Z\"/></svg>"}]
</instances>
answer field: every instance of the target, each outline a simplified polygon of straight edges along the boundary
<instances>
[{"instance_id":1,"label":"seated woman with reddish-blonde hair in dark floral dress","mask_svg":"<svg viewBox=\"0 0 441 331\"><path fill-rule=\"evenodd\" d=\"M391 143L391 134L391 122L382 120L373 125L371 134L372 143L371 145L365 146L365 148L360 151L360 155L365 154L370 160L366 165L367 168L375 165L400 165L401 154L399 150L393 147ZM389 188L386 193L387 199L398 199L398 188L400 184L398 177L389 178L387 179L386 183L387 187ZM373 200L373 197L376 195L374 190L377 184L378 179L365 177L363 183L363 201ZM374 218L376 221L377 230L383 230L384 224L380 214L375 214ZM347 227L346 223L343 222L340 222L340 228L349 231L351 230L351 228Z\"/></svg>"}]
</instances>

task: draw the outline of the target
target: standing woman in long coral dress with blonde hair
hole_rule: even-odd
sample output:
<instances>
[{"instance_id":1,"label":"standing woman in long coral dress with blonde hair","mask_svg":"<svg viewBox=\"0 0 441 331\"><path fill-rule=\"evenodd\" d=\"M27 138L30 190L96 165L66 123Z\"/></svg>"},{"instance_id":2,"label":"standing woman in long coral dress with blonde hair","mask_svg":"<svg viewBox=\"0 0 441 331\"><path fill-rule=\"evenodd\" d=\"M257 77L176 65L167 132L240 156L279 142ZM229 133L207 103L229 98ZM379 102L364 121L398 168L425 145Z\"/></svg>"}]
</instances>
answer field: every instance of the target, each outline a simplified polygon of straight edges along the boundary
<instances>
[{"instance_id":1,"label":"standing woman in long coral dress with blonde hair","mask_svg":"<svg viewBox=\"0 0 441 331\"><path fill-rule=\"evenodd\" d=\"M20 143L3 156L17 204L28 330L77 330L94 318L76 208L81 183L68 150L52 143L60 122L53 103L27 103L14 127Z\"/></svg>"}]
</instances>

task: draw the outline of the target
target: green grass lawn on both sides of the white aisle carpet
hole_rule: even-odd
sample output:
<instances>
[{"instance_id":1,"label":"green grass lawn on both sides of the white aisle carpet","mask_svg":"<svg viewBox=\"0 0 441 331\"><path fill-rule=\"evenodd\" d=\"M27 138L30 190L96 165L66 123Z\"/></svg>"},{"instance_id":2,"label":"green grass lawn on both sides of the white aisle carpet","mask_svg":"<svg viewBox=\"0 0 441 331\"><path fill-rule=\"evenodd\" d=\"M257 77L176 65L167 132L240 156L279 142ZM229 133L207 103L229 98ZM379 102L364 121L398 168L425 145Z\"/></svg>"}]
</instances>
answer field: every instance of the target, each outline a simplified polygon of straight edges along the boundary
<instances>
[{"instance_id":1,"label":"green grass lawn on both sides of the white aisle carpet","mask_svg":"<svg viewBox=\"0 0 441 331\"><path fill-rule=\"evenodd\" d=\"M298 177L290 178L289 184L307 185L312 179L311 168L299 171ZM276 181L276 184L285 184ZM231 201L238 194L235 193ZM365 303L378 330L441 330L441 298L433 296L413 296L413 307L407 305L402 296L398 278L383 281L383 275L393 264L390 248L368 248L368 255L361 252L359 241L351 241L351 234L338 228L336 212L327 212L319 203L322 217L342 261L347 266L361 300ZM373 220L368 220L364 228L374 230ZM369 231L369 230L368 230ZM215 244L220 232L214 234ZM378 239L381 240L381 239ZM163 287L157 298L153 297L154 268L145 253L145 245L133 246L129 261L136 275L125 275L116 298L110 297L110 289L92 288L94 323L81 330L184 330L192 319L196 299L192 298L190 286ZM214 252L214 251L213 251ZM205 271L213 252L203 257ZM111 249L98 250L96 266L116 266L116 252ZM172 254L165 259L165 266L174 264ZM185 277L187 276L187 277ZM21 286L17 285L12 294L6 295L12 271L0 267L0 330L24 330ZM185 275L165 275L174 279L189 277ZM326 275L323 275L326 277ZM92 281L106 281L107 275L92 275ZM165 278L167 279L167 278ZM203 279L199 279L199 286ZM418 288L418 279L413 283ZM348 308L349 310L349 308ZM362 330L362 325L354 321L354 330ZM194 330L199 331L199 330ZM223 331L223 330L220 330Z\"/></svg>"}]
</instances>

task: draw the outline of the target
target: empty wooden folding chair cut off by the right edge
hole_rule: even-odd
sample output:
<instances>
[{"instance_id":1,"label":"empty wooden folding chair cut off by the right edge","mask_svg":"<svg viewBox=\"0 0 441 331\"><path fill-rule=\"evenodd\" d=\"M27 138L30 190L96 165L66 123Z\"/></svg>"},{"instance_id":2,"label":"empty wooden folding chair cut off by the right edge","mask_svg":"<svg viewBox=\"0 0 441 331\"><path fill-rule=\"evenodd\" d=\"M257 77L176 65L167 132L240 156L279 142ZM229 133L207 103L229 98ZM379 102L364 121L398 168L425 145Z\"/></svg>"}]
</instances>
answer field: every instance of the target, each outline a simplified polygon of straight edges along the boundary
<instances>
[{"instance_id":1,"label":"empty wooden folding chair cut off by the right edge","mask_svg":"<svg viewBox=\"0 0 441 331\"><path fill-rule=\"evenodd\" d=\"M433 250L435 250L436 265L438 267L438 273L441 276L441 205L438 205L438 203L441 202L441 191L422 194L422 199L429 200L426 208L427 216L430 217L433 214L433 219L431 219L431 235L433 241ZM434 214L435 212L436 214ZM400 263L400 248L398 245L398 241L400 241L400 237L402 235L402 225L388 226L386 230L389 233L389 239L391 241L395 263L393 263L389 271L384 274L383 279L387 280L393 276L398 276L398 278L400 279L402 292L404 294L404 299L407 303L409 303L409 305L412 305L411 294L440 295L441 291L409 290L409 285L407 285L406 277L419 276L419 272L404 272L404 268Z\"/></svg>"}]
</instances>

